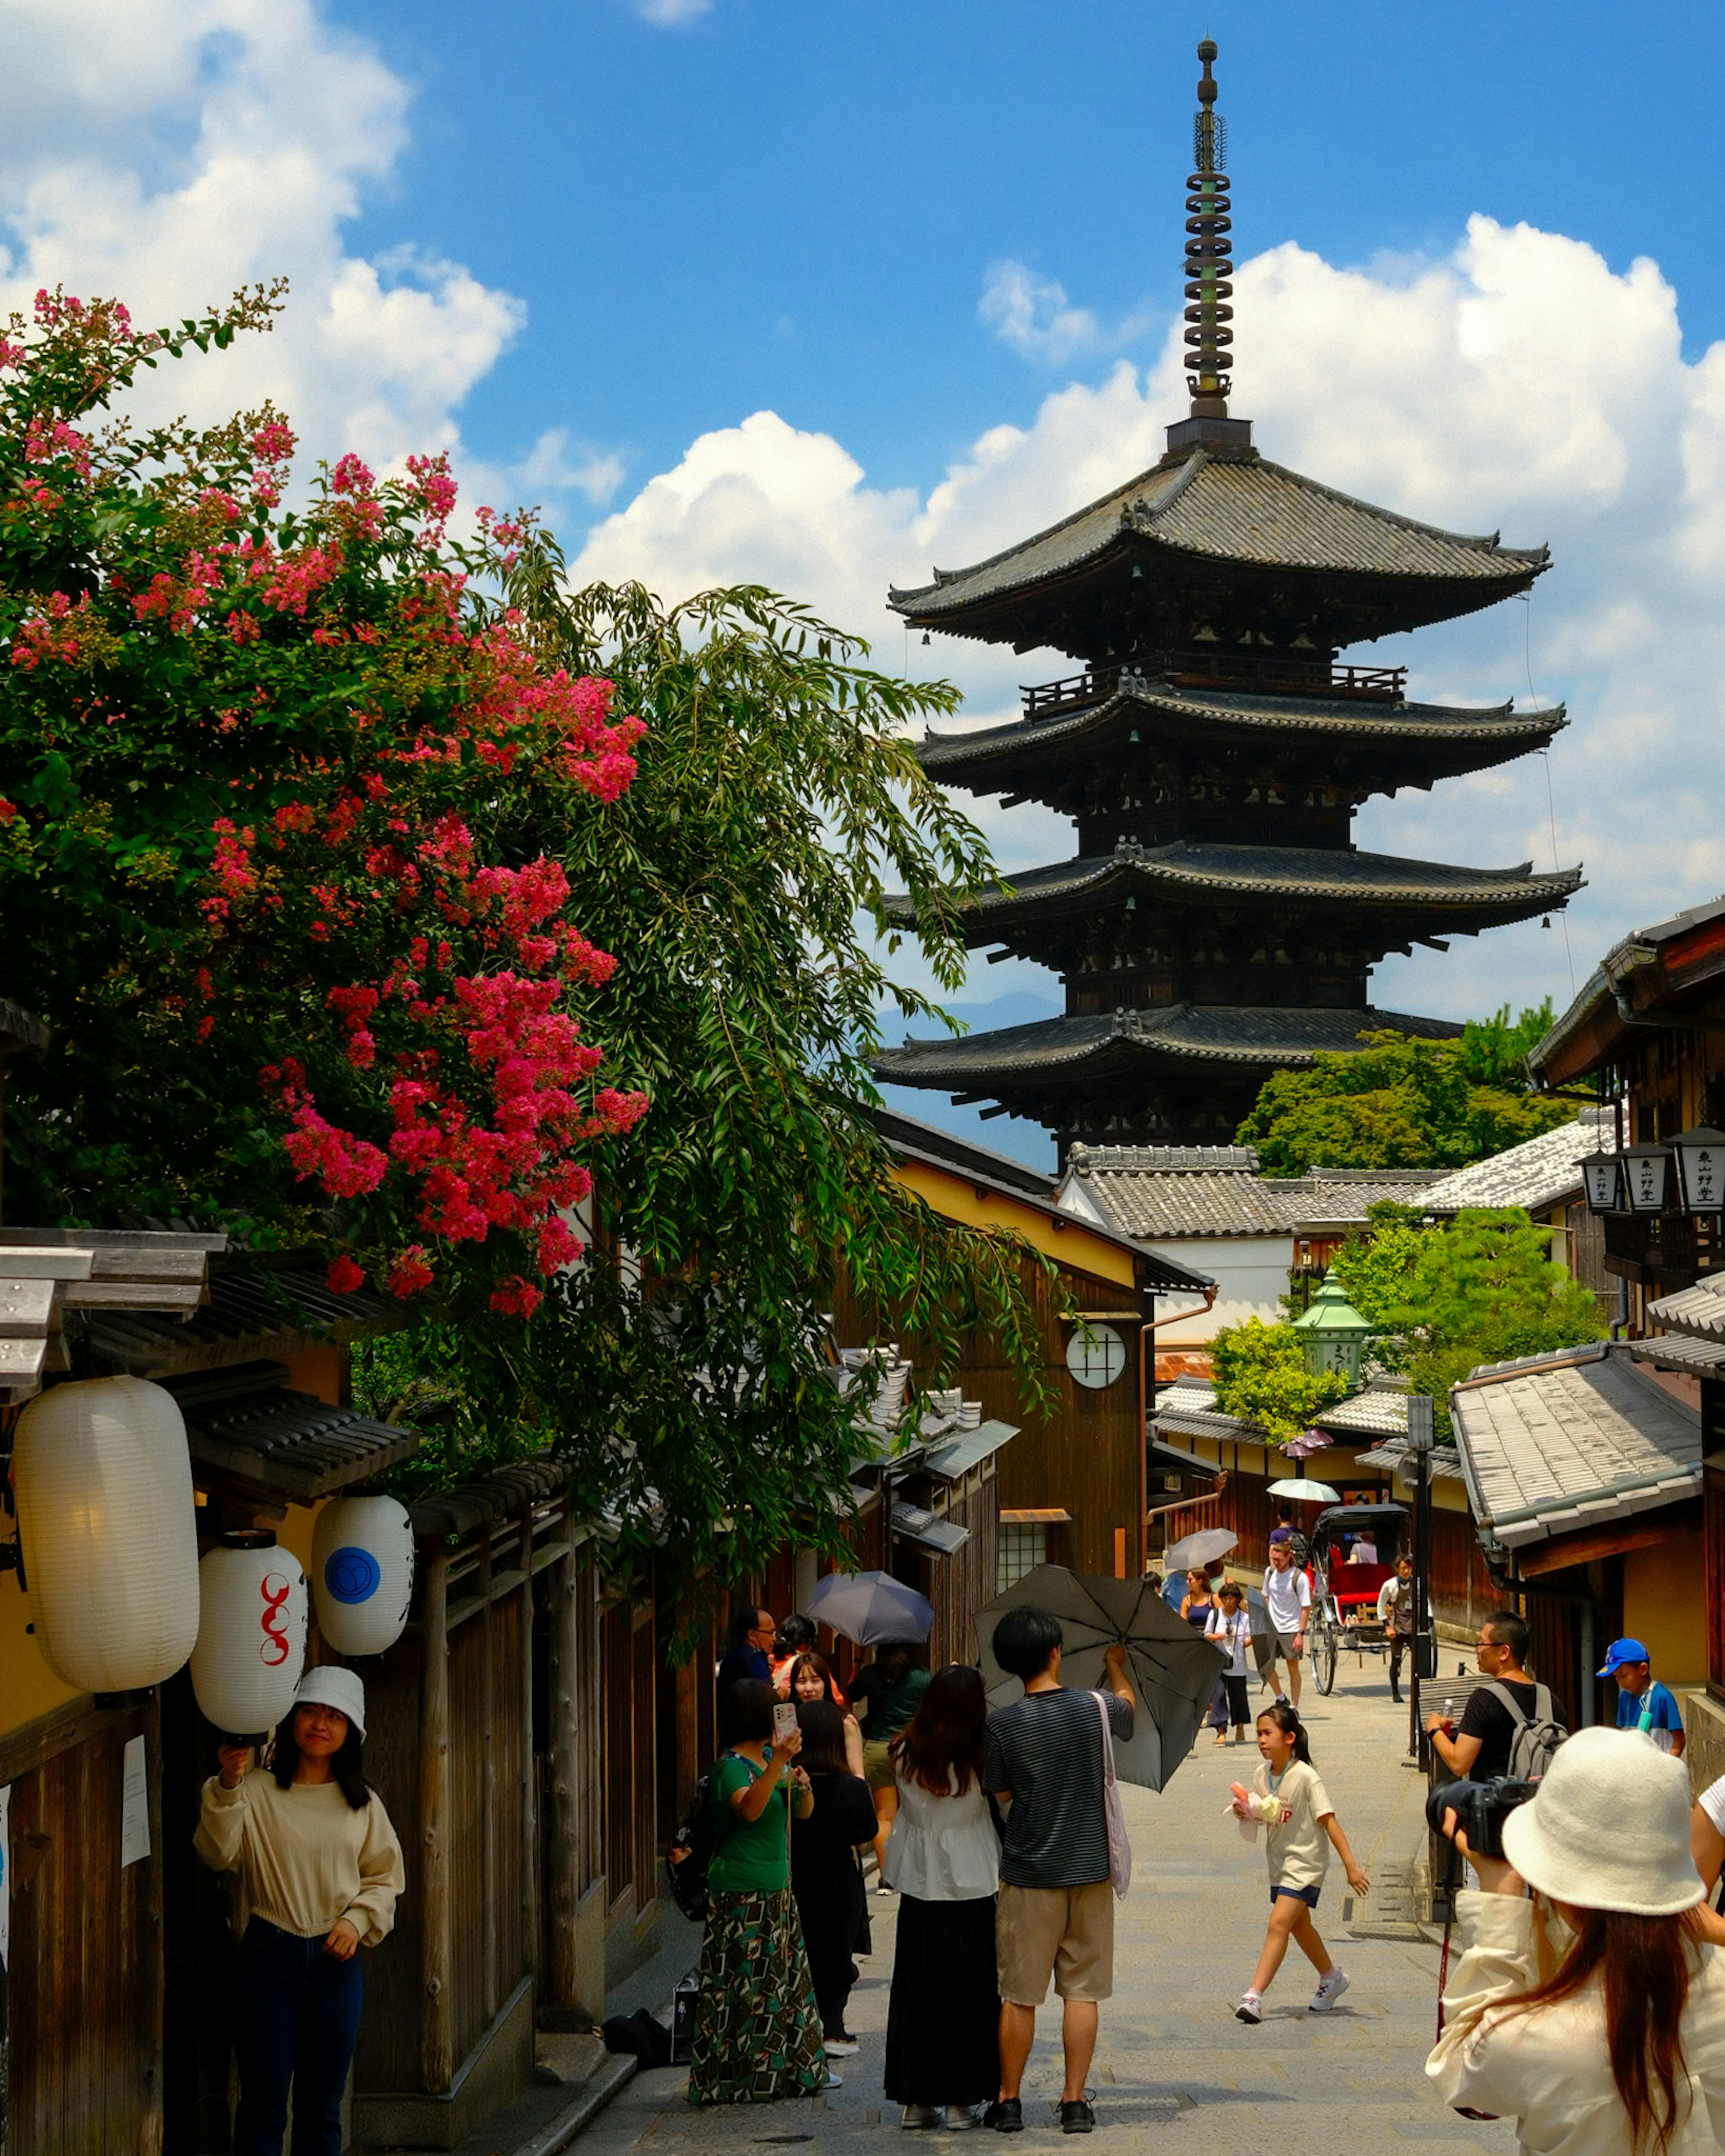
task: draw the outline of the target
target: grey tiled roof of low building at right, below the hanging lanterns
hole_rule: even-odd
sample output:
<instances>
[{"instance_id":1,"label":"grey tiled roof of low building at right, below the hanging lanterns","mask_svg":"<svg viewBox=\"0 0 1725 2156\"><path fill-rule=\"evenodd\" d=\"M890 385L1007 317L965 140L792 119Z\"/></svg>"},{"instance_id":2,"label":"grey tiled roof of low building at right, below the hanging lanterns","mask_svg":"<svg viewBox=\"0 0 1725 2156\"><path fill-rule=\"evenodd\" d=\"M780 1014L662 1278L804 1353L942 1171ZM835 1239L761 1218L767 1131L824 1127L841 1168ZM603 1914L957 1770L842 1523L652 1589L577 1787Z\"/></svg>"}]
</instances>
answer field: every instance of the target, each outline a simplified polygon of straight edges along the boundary
<instances>
[{"instance_id":1,"label":"grey tiled roof of low building at right, below the hanging lanterns","mask_svg":"<svg viewBox=\"0 0 1725 2156\"><path fill-rule=\"evenodd\" d=\"M1512 1550L1701 1488L1701 1416L1624 1345L1475 1373L1451 1391L1449 1412L1475 1522Z\"/></svg>"}]
</instances>

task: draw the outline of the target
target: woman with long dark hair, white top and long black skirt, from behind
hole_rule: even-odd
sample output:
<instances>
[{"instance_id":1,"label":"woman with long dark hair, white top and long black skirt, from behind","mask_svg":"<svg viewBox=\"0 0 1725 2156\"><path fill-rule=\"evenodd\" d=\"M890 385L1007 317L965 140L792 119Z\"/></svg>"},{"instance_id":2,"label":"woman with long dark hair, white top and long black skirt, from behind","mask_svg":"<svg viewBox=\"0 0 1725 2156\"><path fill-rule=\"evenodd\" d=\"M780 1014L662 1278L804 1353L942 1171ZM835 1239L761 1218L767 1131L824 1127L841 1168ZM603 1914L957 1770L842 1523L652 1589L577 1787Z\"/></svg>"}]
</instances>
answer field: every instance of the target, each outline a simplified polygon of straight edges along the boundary
<instances>
[{"instance_id":1,"label":"woman with long dark hair, white top and long black skirt, from behind","mask_svg":"<svg viewBox=\"0 0 1725 2156\"><path fill-rule=\"evenodd\" d=\"M953 1664L893 1740L899 1811L886 1878L899 1891L899 1934L886 2096L903 2104L903 2126L981 2126L1000 2087L1000 1837L981 1779L985 1720L981 1673Z\"/></svg>"}]
</instances>

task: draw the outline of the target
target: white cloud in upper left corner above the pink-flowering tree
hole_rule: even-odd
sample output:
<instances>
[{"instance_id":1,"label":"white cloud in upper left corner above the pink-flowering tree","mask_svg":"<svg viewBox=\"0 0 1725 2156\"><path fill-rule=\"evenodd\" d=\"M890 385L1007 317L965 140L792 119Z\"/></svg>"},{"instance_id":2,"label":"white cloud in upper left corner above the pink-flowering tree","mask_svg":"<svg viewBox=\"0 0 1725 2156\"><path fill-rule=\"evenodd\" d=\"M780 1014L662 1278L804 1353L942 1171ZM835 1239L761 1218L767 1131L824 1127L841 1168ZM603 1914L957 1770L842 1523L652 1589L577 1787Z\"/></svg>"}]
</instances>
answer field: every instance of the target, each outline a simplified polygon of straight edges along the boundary
<instances>
[{"instance_id":1,"label":"white cloud in upper left corner above the pink-flowering tree","mask_svg":"<svg viewBox=\"0 0 1725 2156\"><path fill-rule=\"evenodd\" d=\"M410 88L369 43L313 0L0 0L0 313L65 285L144 328L287 274L270 336L162 369L136 407L211 420L272 397L308 455L459 448L526 308L461 263L343 244L408 142ZM563 446L524 472L604 500L615 459Z\"/></svg>"}]
</instances>

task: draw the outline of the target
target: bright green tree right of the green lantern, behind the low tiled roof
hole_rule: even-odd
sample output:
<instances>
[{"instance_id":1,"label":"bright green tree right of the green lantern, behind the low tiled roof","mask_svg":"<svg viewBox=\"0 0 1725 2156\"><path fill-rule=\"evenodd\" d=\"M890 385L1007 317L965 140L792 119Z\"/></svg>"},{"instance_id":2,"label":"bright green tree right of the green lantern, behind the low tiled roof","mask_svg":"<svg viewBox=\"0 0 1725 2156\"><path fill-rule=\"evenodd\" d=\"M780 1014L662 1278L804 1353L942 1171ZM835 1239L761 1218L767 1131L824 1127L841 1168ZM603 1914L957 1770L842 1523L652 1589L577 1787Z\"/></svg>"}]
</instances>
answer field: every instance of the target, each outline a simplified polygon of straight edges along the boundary
<instances>
[{"instance_id":1,"label":"bright green tree right of the green lantern, behind the low tiled roof","mask_svg":"<svg viewBox=\"0 0 1725 2156\"><path fill-rule=\"evenodd\" d=\"M1550 1259L1550 1229L1520 1207L1419 1227L1371 1207L1371 1238L1333 1259L1348 1300L1384 1332L1382 1360L1430 1393L1447 1427L1451 1384L1486 1363L1550 1354L1604 1337L1598 1300Z\"/></svg>"}]
</instances>

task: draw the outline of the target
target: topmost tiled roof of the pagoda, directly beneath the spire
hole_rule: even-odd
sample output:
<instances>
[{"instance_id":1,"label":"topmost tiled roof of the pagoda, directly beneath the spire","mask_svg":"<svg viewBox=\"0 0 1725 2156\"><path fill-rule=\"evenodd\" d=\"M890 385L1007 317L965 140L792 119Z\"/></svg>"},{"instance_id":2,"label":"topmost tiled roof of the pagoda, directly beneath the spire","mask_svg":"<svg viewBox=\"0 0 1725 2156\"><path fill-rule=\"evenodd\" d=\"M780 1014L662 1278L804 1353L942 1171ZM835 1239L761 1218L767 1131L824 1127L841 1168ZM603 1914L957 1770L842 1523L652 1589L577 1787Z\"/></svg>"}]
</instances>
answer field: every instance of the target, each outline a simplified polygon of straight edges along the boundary
<instances>
[{"instance_id":1,"label":"topmost tiled roof of the pagoda, directly beneath the spire","mask_svg":"<svg viewBox=\"0 0 1725 2156\"><path fill-rule=\"evenodd\" d=\"M1216 569L1341 580L1354 586L1356 604L1363 599L1365 612L1378 617L1356 634L1380 636L1527 591L1548 567L1550 550L1505 548L1496 533L1421 524L1270 464L1253 448L1197 446L1167 455L1149 472L988 561L936 569L932 584L893 589L888 604L919 627L1013 642L1020 651L1041 642L1063 651L1072 645L1061 640L1057 617L1067 606L1050 586L1082 580L1110 556L1138 563L1164 586L1192 582L1192 571L1210 571L1197 580L1214 584ZM1348 612L1341 591L1337 610Z\"/></svg>"}]
</instances>

